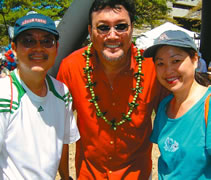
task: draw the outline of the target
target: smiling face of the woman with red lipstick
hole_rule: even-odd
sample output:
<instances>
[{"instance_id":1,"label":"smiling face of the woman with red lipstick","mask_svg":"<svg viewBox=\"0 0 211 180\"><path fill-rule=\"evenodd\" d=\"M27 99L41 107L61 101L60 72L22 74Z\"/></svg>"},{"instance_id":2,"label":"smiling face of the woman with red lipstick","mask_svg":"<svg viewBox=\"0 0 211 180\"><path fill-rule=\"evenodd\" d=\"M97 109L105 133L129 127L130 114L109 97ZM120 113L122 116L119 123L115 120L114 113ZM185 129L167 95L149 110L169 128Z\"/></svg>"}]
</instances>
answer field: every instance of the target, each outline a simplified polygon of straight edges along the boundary
<instances>
[{"instance_id":1,"label":"smiling face of the woman with red lipstick","mask_svg":"<svg viewBox=\"0 0 211 180\"><path fill-rule=\"evenodd\" d=\"M174 46L162 46L155 55L155 68L160 83L173 93L184 92L194 82L198 56Z\"/></svg>"}]
</instances>

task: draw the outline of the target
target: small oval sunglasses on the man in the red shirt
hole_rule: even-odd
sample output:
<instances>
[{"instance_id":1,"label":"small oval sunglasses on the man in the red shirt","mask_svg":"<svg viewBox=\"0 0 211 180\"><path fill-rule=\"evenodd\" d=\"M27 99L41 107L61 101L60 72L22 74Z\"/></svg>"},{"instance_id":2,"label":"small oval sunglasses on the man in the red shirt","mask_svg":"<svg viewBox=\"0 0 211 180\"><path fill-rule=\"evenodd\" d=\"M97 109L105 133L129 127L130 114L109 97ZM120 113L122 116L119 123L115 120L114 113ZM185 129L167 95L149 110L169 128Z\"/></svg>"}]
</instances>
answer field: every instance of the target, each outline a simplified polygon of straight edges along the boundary
<instances>
[{"instance_id":1,"label":"small oval sunglasses on the man in the red shirt","mask_svg":"<svg viewBox=\"0 0 211 180\"><path fill-rule=\"evenodd\" d=\"M126 32L128 30L128 27L129 27L128 24L121 23L121 24L115 25L114 29L118 33L123 33L123 32ZM107 33L109 33L111 27L108 26L108 25L102 24L102 25L97 26L97 29L101 34L107 34Z\"/></svg>"}]
</instances>

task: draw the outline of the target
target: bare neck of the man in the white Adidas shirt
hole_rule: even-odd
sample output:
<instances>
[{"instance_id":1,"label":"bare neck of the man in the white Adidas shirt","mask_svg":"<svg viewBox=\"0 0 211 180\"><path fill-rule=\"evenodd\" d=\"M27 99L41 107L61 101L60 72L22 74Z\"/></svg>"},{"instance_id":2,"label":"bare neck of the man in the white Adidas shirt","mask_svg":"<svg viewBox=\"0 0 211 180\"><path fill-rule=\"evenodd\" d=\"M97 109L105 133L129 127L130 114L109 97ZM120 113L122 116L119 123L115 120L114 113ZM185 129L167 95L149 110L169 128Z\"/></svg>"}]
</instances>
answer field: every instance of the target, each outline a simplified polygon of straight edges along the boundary
<instances>
[{"instance_id":1,"label":"bare neck of the man in the white Adidas shirt","mask_svg":"<svg viewBox=\"0 0 211 180\"><path fill-rule=\"evenodd\" d=\"M17 71L21 80L36 95L44 97L47 94L47 85L45 83L46 74L42 73L22 73Z\"/></svg>"}]
</instances>

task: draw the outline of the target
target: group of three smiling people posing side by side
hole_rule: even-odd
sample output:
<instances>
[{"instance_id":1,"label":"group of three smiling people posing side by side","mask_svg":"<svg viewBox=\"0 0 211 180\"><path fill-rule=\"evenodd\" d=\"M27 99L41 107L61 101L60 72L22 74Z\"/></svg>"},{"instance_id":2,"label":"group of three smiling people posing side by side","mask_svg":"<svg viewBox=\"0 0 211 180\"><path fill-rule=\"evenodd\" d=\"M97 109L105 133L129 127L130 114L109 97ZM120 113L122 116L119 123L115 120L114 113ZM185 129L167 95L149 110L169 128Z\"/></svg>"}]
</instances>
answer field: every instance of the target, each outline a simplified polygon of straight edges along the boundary
<instances>
[{"instance_id":1,"label":"group of three smiling people posing side by side","mask_svg":"<svg viewBox=\"0 0 211 180\"><path fill-rule=\"evenodd\" d=\"M152 143L159 179L211 179L211 87L196 45L166 31L137 49L135 12L131 0L95 0L91 43L62 60L56 79L47 74L59 47L53 20L16 21L17 68L0 78L0 179L72 179L73 142L78 180L152 179Z\"/></svg>"}]
</instances>

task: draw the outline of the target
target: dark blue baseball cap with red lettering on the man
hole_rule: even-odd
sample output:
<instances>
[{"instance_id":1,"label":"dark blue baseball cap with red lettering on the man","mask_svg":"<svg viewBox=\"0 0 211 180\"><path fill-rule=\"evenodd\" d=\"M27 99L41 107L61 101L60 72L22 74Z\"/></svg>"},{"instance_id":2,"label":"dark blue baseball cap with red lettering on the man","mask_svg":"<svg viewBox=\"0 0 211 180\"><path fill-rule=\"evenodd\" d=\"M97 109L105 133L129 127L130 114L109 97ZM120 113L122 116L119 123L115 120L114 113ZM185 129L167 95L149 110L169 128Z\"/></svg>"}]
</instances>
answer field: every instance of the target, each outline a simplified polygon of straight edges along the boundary
<instances>
[{"instance_id":1,"label":"dark blue baseball cap with red lettering on the man","mask_svg":"<svg viewBox=\"0 0 211 180\"><path fill-rule=\"evenodd\" d=\"M52 33L57 40L59 39L54 21L48 16L35 13L23 16L15 22L13 41L20 33L29 29L41 29Z\"/></svg>"}]
</instances>

